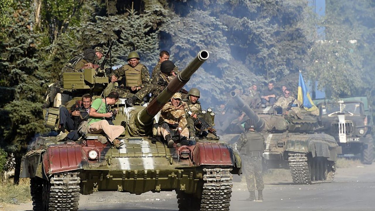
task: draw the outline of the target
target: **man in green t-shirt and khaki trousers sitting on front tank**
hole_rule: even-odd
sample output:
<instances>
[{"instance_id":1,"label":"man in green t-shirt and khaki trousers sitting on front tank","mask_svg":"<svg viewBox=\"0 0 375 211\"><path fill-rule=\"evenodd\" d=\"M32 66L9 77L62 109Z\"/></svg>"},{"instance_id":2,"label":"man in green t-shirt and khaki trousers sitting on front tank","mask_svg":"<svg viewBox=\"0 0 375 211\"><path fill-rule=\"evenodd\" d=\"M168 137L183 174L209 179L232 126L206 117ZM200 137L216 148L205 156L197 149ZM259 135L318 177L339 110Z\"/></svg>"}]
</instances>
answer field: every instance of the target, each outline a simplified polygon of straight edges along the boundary
<instances>
[{"instance_id":1,"label":"man in green t-shirt and khaki trousers sitting on front tank","mask_svg":"<svg viewBox=\"0 0 375 211\"><path fill-rule=\"evenodd\" d=\"M116 148L124 144L118 140L118 136L125 131L125 128L121 125L110 125L105 118L110 118L113 115L112 112L107 111L106 103L107 105L114 105L117 101L117 92L111 92L106 98L103 99L95 99L90 108L90 119L88 123L89 133L99 134L104 132L106 136L99 136L98 140L101 143L107 143L108 140L110 140L110 142Z\"/></svg>"}]
</instances>

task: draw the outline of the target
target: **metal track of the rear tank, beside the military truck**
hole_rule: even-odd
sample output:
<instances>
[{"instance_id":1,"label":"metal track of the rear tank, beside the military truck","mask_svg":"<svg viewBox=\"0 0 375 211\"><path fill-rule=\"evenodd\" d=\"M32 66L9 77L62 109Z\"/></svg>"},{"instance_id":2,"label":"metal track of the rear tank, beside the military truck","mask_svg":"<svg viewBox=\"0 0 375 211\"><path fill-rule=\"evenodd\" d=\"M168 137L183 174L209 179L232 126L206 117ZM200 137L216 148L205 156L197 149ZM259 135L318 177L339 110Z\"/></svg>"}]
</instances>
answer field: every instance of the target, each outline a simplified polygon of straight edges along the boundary
<instances>
[{"instance_id":1,"label":"metal track of the rear tank, beside the military truck","mask_svg":"<svg viewBox=\"0 0 375 211\"><path fill-rule=\"evenodd\" d=\"M308 158L306 154L289 154L289 167L292 174L293 182L296 184L317 184L323 182L332 182L335 176L334 167L327 172L324 180L311 180Z\"/></svg>"}]
</instances>

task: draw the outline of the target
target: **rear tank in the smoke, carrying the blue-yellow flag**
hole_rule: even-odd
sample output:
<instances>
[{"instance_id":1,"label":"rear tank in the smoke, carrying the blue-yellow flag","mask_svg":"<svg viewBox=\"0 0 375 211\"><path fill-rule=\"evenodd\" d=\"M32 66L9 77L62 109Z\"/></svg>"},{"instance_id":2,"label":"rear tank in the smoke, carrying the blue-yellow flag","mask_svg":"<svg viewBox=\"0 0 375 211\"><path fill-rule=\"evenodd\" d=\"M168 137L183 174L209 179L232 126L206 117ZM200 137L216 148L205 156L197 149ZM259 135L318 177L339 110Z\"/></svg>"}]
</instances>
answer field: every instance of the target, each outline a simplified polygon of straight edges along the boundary
<instances>
[{"instance_id":1,"label":"rear tank in the smoke, carrying the blue-yellow flag","mask_svg":"<svg viewBox=\"0 0 375 211\"><path fill-rule=\"evenodd\" d=\"M264 158L268 168L290 169L296 184L332 182L337 154L341 147L335 138L316 133L320 128L317 116L302 112L302 119L276 115L272 107L252 110L231 92L242 111L255 121L255 130L261 132L267 148Z\"/></svg>"}]
</instances>

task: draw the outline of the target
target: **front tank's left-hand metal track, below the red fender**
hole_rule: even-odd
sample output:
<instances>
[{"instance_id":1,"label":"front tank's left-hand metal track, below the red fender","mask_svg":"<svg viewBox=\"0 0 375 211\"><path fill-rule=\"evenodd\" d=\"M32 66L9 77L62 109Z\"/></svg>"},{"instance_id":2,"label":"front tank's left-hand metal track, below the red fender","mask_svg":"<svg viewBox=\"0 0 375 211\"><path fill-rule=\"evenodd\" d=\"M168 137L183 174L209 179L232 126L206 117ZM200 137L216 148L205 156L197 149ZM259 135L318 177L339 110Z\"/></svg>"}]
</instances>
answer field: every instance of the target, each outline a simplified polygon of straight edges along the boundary
<instances>
[{"instance_id":1,"label":"front tank's left-hand metal track, below the red fender","mask_svg":"<svg viewBox=\"0 0 375 211\"><path fill-rule=\"evenodd\" d=\"M49 182L48 210L77 211L80 177L77 172L53 174Z\"/></svg>"}]
</instances>

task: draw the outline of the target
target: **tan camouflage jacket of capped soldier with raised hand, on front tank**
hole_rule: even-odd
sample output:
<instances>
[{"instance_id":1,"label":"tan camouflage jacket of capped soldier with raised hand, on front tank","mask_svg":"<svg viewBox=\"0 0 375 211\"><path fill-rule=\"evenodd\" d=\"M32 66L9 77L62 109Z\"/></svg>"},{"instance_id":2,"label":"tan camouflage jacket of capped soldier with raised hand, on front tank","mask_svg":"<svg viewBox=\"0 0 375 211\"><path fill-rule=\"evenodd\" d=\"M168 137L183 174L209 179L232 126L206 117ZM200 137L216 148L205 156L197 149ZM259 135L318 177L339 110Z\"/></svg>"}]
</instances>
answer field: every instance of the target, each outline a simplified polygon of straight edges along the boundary
<instances>
[{"instance_id":1,"label":"tan camouflage jacket of capped soldier with raised hand, on front tank","mask_svg":"<svg viewBox=\"0 0 375 211\"><path fill-rule=\"evenodd\" d=\"M166 122L169 125L178 125L178 127L185 128L187 121L184 110L174 110L174 108L172 102L167 102L161 110L159 123Z\"/></svg>"}]
</instances>

